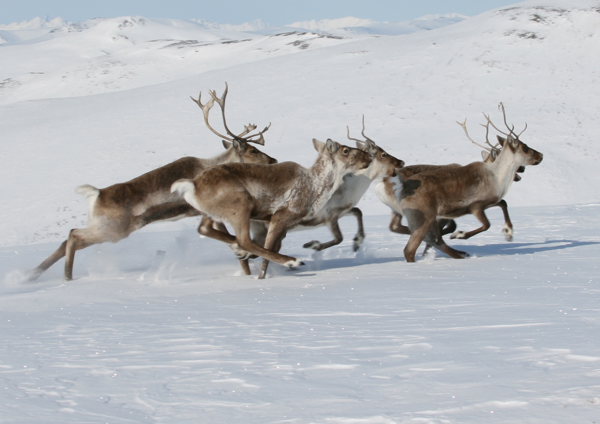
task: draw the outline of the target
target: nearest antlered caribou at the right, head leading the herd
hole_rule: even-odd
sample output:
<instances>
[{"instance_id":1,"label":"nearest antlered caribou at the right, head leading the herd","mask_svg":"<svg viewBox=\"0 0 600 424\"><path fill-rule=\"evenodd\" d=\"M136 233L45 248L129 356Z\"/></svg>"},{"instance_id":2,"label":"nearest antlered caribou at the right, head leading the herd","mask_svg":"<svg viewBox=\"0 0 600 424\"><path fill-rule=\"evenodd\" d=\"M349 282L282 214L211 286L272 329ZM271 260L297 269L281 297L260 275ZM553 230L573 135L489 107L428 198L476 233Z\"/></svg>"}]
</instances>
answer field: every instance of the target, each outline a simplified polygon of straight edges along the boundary
<instances>
[{"instance_id":1,"label":"nearest antlered caribou at the right, head leading the herd","mask_svg":"<svg viewBox=\"0 0 600 424\"><path fill-rule=\"evenodd\" d=\"M451 238L467 239L486 231L490 228L490 222L485 216L485 209L502 205L506 207L506 203L501 203L502 198L515 180L515 172L522 171L522 167L527 165L538 165L542 161L544 156L541 153L520 141L519 136L524 130L517 135L514 125L508 126L502 103L499 104L499 108L502 108L508 133L499 130L489 115L484 114L487 124L482 124L486 127L485 138L488 145L491 145L488 140L490 125L506 136L497 136L497 144L486 148L492 156L491 163L473 162L466 166L449 166L421 172L406 179L398 174L399 186L395 190L398 207L400 213L406 216L410 231L409 241L404 248L407 262L415 262L416 249L423 240L452 258L466 257L465 252L452 249L443 242L436 219L453 219L473 214L482 224L472 231L454 232ZM460 125L464 125L466 132L466 121Z\"/></svg>"}]
</instances>

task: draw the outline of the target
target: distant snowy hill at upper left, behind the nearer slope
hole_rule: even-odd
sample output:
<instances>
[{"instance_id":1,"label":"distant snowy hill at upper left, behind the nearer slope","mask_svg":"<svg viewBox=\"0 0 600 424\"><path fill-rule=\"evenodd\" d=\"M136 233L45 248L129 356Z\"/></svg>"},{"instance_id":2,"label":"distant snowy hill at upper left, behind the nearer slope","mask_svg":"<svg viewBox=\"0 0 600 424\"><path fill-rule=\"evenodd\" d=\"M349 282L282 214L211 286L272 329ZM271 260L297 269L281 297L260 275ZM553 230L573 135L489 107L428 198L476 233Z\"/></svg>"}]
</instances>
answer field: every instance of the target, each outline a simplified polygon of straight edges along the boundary
<instances>
[{"instance_id":1,"label":"distant snowy hill at upper left, behind the nearer slope","mask_svg":"<svg viewBox=\"0 0 600 424\"><path fill-rule=\"evenodd\" d=\"M260 36L136 16L92 19L0 46L0 104L130 89L364 37Z\"/></svg>"}]
</instances>

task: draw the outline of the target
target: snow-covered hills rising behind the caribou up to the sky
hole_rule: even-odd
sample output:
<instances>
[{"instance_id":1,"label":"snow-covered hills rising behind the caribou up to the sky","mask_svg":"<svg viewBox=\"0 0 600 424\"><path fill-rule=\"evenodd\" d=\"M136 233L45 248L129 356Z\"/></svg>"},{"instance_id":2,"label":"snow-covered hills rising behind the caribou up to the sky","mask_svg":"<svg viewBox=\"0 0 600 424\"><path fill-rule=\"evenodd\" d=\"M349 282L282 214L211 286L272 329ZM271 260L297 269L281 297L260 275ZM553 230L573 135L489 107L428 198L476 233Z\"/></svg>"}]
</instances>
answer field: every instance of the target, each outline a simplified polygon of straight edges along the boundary
<instances>
[{"instance_id":1,"label":"snow-covered hills rising behind the caribou up to the sky","mask_svg":"<svg viewBox=\"0 0 600 424\"><path fill-rule=\"evenodd\" d=\"M239 32L234 37L188 21L177 27L119 18L87 23L82 31L68 27L39 43L0 47L3 78L31 76L31 82L6 89L5 103L121 89L0 108L7 144L0 173L11 199L0 206L2 240L59 240L82 225L86 206L73 193L79 184L104 187L185 154L218 153L218 140L188 96L220 91L224 80L230 85L229 122L271 121L265 151L304 165L314 157L311 138L344 141L345 126L359 129L362 114L367 134L407 164L472 162L479 149L455 121L467 117L472 136L481 140L481 112L501 122L496 107L503 101L509 123L527 123L524 141L545 154L512 186L509 205L597 199L597 8L591 0L530 0L397 37L246 35L249 41L232 43L240 41ZM63 65L70 62L76 65ZM49 76L28 74L37 71ZM172 80L161 82L166 77ZM130 81L138 88L127 89ZM367 214L386 213L372 193L361 207Z\"/></svg>"}]
</instances>

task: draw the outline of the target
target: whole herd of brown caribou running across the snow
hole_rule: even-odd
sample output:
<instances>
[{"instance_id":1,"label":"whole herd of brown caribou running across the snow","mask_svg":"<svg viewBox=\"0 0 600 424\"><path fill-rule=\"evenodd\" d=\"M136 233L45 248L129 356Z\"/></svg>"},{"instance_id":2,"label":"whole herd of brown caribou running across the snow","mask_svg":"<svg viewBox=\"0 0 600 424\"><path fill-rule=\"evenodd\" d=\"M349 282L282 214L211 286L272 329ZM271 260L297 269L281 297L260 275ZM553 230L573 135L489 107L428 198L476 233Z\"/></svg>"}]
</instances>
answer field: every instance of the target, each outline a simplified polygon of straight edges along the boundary
<instances>
[{"instance_id":1,"label":"whole herd of brown caribou running across the snow","mask_svg":"<svg viewBox=\"0 0 600 424\"><path fill-rule=\"evenodd\" d=\"M404 257L415 262L415 253L422 241L425 252L431 247L452 258L465 258L466 252L448 246L442 236L470 238L490 228L485 210L502 208L506 240L512 240L512 223L503 197L517 174L527 165L538 165L542 154L528 147L514 126L504 124L508 132L498 129L484 114L485 145L469 136L466 120L460 124L467 138L482 151L482 162L461 166L410 165L396 159L365 136L364 140L347 137L356 142L356 148L328 139L313 139L317 159L313 166L304 168L295 162L277 160L250 145L265 144L263 134L269 129L253 133L256 125L245 126L235 135L225 118L227 83L223 95L209 91L210 98L202 104L201 94L192 100L200 106L208 129L223 139L225 151L211 159L182 157L175 162L146 172L126 183L104 189L84 185L76 192L88 200L88 228L71 229L67 240L43 261L29 271L28 280L37 279L56 261L65 257L66 280L73 279L75 252L96 243L116 243L131 232L152 222L178 220L202 216L198 232L229 244L244 274L250 274L248 259L263 258L259 279L265 278L269 261L285 267L303 265L298 258L279 253L281 242L292 229L326 225L334 239L327 243L313 240L304 247L323 250L343 240L338 220L352 214L358 220L358 232L353 248L358 250L364 240L362 213L356 207L373 181L379 199L392 210L391 231L410 235ZM223 127L227 133L218 133L209 124L209 111L217 103L221 109ZM490 126L503 136L492 144L488 135ZM525 126L527 128L527 125ZM472 231L455 231L454 218L473 214L481 227ZM402 225L405 217L407 225ZM227 231L229 223L235 235Z\"/></svg>"}]
</instances>

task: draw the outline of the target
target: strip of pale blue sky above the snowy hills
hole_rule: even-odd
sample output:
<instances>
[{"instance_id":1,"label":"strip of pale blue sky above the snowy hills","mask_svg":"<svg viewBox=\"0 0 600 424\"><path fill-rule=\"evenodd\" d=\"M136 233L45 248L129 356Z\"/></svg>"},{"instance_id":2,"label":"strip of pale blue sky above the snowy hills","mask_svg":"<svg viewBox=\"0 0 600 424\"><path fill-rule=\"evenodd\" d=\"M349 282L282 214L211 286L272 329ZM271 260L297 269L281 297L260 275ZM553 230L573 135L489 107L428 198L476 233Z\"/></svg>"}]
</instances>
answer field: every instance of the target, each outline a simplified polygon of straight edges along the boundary
<instances>
[{"instance_id":1,"label":"strip of pale blue sky above the snowy hills","mask_svg":"<svg viewBox=\"0 0 600 424\"><path fill-rule=\"evenodd\" d=\"M60 16L79 22L127 15L206 19L234 25L258 18L271 25L286 25L299 20L344 16L396 22L434 13L473 16L512 3L511 0L0 0L0 23L22 22L37 16L50 19Z\"/></svg>"}]
</instances>

